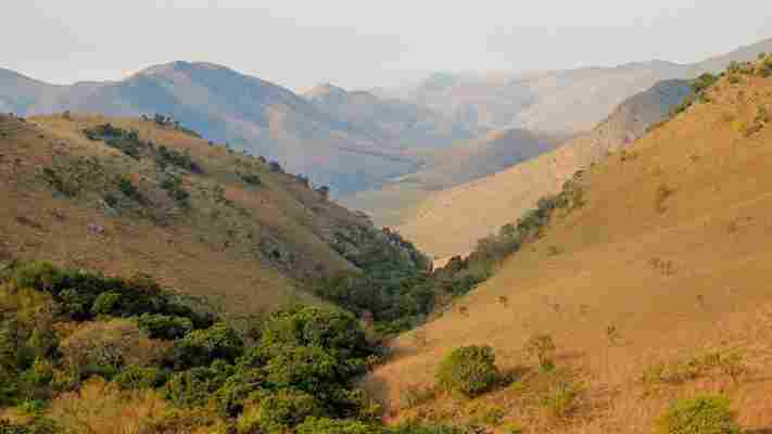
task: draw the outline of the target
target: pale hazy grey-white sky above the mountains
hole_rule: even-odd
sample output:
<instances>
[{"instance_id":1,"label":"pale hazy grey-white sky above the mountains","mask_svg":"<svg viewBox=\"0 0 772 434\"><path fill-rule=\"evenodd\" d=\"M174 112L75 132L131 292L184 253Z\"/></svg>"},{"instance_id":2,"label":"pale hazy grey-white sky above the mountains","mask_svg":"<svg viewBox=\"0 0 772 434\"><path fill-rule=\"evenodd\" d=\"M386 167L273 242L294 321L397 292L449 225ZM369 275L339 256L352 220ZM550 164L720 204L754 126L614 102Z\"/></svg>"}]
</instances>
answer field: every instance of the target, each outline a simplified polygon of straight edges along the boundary
<instances>
[{"instance_id":1,"label":"pale hazy grey-white sky above the mountains","mask_svg":"<svg viewBox=\"0 0 772 434\"><path fill-rule=\"evenodd\" d=\"M693 62L772 37L770 0L3 0L1 16L0 67L42 80L189 60L295 90Z\"/></svg>"}]
</instances>

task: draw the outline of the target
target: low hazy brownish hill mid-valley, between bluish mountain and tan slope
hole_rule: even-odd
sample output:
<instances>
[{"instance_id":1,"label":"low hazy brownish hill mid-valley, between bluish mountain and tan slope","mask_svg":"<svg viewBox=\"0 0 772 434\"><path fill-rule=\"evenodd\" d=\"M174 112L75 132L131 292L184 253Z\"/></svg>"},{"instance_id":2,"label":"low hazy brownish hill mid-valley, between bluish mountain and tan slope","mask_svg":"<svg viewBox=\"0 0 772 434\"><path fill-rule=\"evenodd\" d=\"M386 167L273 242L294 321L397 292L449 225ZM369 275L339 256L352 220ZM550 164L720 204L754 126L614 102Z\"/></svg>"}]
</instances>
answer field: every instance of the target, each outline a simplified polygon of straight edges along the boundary
<instances>
[{"instance_id":1,"label":"low hazy brownish hill mid-valley, between bluish mountain and tan slope","mask_svg":"<svg viewBox=\"0 0 772 434\"><path fill-rule=\"evenodd\" d=\"M371 215L376 225L400 226L412 207L439 191L483 178L555 149L560 139L506 128L439 150L413 151L422 167L377 188L340 197L351 209Z\"/></svg>"}]
</instances>

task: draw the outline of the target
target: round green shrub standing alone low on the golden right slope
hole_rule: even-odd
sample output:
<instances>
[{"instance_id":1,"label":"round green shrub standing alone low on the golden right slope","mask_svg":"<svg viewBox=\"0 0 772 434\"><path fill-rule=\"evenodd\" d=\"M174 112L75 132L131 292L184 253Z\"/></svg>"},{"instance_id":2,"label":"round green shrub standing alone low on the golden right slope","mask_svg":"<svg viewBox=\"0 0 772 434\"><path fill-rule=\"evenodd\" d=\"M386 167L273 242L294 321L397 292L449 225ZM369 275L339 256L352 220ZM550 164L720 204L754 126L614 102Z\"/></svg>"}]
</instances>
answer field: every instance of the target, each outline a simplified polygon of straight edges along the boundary
<instances>
[{"instance_id":1,"label":"round green shrub standing alone low on the golden right slope","mask_svg":"<svg viewBox=\"0 0 772 434\"><path fill-rule=\"evenodd\" d=\"M468 397L488 392L499 380L496 357L490 346L454 349L436 373L438 385Z\"/></svg>"}]
</instances>

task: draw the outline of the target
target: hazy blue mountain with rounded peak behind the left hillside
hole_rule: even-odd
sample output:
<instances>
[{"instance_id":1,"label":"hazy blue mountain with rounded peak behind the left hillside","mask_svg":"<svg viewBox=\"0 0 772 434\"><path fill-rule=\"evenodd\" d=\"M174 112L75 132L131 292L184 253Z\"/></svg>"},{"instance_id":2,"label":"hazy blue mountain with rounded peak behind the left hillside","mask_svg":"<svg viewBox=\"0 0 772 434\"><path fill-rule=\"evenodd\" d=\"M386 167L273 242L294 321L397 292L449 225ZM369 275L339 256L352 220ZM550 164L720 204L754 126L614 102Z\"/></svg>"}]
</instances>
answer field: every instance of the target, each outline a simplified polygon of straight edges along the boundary
<instances>
[{"instance_id":1,"label":"hazy blue mountain with rounded peak behind the left hillside","mask_svg":"<svg viewBox=\"0 0 772 434\"><path fill-rule=\"evenodd\" d=\"M402 157L392 141L372 136L366 125L338 119L288 89L219 65L174 62L122 81L72 87L9 77L0 76L7 112L68 110L118 117L161 113L212 140L278 161L336 192L365 188L417 164Z\"/></svg>"}]
</instances>

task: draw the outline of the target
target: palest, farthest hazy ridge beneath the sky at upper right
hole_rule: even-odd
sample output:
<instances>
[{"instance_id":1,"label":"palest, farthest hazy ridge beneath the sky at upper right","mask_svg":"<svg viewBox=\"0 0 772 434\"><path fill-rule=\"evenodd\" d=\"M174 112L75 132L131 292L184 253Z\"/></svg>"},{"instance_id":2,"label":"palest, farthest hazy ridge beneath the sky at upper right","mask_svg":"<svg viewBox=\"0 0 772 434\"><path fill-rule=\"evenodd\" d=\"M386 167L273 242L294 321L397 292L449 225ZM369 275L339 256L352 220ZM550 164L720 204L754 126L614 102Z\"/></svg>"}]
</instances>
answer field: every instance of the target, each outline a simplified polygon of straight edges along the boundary
<instances>
[{"instance_id":1,"label":"palest, farthest hazy ridge beneath the sky at upper right","mask_svg":"<svg viewBox=\"0 0 772 434\"><path fill-rule=\"evenodd\" d=\"M749 61L769 51L772 39L696 64L649 61L522 75L441 73L390 94L479 127L573 135L592 129L627 98L658 81L723 71L732 61Z\"/></svg>"}]
</instances>

